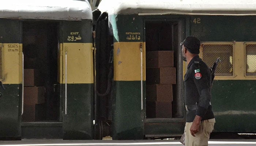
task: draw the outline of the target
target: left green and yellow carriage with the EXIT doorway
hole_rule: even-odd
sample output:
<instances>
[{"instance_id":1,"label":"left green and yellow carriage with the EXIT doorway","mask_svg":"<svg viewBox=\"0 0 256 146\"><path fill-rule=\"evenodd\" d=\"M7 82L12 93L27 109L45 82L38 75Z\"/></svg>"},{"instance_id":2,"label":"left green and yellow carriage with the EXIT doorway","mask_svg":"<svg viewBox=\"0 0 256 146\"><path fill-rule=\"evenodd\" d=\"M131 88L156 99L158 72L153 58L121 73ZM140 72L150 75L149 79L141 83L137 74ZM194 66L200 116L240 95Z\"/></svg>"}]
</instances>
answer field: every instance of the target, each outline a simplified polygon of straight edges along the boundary
<instances>
[{"instance_id":1,"label":"left green and yellow carriage with the EXIT doorway","mask_svg":"<svg viewBox=\"0 0 256 146\"><path fill-rule=\"evenodd\" d=\"M0 138L93 139L89 2L5 1L0 27Z\"/></svg>"}]
</instances>

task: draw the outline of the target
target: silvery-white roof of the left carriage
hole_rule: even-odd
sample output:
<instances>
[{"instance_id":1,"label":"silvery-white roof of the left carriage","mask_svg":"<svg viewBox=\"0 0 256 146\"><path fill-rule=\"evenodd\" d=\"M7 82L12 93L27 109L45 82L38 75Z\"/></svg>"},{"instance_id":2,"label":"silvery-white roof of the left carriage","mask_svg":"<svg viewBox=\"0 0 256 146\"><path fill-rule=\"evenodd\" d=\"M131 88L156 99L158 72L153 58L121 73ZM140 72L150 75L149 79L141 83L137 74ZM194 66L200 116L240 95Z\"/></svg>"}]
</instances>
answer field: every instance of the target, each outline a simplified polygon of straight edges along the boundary
<instances>
[{"instance_id":1,"label":"silvery-white roof of the left carriage","mask_svg":"<svg viewBox=\"0 0 256 146\"><path fill-rule=\"evenodd\" d=\"M5 0L0 18L82 20L93 16L87 0Z\"/></svg>"}]
</instances>

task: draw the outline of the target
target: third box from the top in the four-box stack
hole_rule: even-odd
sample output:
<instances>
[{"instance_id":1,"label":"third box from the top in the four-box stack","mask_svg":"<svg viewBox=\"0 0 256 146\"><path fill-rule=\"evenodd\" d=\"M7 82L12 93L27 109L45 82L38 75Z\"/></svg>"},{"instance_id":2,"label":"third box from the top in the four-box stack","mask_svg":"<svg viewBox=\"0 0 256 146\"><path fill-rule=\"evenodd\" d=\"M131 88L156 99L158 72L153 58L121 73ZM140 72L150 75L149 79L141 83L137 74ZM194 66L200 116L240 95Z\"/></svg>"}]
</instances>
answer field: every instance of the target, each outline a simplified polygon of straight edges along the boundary
<instances>
[{"instance_id":1,"label":"third box from the top in the four-box stack","mask_svg":"<svg viewBox=\"0 0 256 146\"><path fill-rule=\"evenodd\" d=\"M146 85L146 100L173 101L172 85Z\"/></svg>"}]
</instances>

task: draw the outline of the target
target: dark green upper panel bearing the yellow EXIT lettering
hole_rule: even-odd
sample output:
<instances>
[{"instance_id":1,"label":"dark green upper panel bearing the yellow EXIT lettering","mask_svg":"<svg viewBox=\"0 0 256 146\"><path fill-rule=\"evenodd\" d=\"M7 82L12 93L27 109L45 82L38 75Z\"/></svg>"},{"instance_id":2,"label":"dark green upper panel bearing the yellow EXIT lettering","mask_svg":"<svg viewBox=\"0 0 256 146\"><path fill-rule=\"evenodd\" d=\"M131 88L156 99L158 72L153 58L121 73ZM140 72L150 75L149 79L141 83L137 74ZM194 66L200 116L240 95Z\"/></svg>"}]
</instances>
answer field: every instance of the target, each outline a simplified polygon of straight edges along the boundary
<instances>
[{"instance_id":1,"label":"dark green upper panel bearing the yellow EXIT lettering","mask_svg":"<svg viewBox=\"0 0 256 146\"><path fill-rule=\"evenodd\" d=\"M92 20L64 21L64 43L91 43L93 42Z\"/></svg>"}]
</instances>

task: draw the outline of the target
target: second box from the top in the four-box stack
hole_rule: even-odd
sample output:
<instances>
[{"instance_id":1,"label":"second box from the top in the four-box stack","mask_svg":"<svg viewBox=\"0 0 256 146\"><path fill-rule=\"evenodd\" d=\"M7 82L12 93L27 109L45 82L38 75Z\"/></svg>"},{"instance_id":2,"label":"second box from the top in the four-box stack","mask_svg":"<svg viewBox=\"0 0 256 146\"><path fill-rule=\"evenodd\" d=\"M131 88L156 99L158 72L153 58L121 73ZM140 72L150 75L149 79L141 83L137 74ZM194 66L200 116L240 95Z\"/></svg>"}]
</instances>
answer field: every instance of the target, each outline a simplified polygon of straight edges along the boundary
<instances>
[{"instance_id":1,"label":"second box from the top in the four-box stack","mask_svg":"<svg viewBox=\"0 0 256 146\"><path fill-rule=\"evenodd\" d=\"M146 84L176 84L176 68L146 68Z\"/></svg>"}]
</instances>

